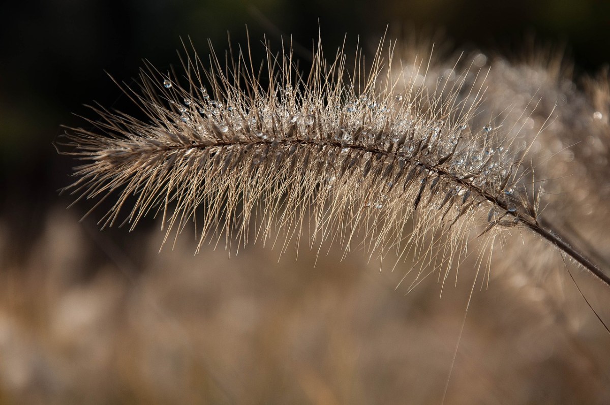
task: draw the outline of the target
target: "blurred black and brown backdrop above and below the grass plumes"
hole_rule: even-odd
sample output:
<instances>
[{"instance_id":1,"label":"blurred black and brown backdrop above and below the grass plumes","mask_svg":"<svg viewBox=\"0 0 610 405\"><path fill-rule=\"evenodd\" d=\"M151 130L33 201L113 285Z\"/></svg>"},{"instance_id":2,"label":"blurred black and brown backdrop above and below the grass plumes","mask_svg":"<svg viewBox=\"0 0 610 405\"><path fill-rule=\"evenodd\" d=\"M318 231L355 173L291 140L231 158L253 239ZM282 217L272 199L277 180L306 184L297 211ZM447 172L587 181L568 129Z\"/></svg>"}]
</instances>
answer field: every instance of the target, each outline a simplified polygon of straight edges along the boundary
<instances>
[{"instance_id":1,"label":"blurred black and brown backdrop above and below the grass plumes","mask_svg":"<svg viewBox=\"0 0 610 405\"><path fill-rule=\"evenodd\" d=\"M389 24L392 38L443 32L448 49L516 56L535 35L578 73L610 55L610 6L595 0L48 0L2 13L0 403L439 403L451 369L473 274L441 299L434 280L404 296L400 270L358 254L315 268L312 254L278 263L257 246L193 257L188 237L157 254L154 220L131 234L78 223L87 204L66 212L56 193L74 162L51 142L85 125L92 100L137 114L104 71L131 84L144 58L178 65L180 37L222 52L227 32L246 43L246 24L255 43L285 34L303 49L319 29L328 54L345 34L370 53ZM575 289L497 277L475 292L447 403L610 401L608 336Z\"/></svg>"}]
</instances>

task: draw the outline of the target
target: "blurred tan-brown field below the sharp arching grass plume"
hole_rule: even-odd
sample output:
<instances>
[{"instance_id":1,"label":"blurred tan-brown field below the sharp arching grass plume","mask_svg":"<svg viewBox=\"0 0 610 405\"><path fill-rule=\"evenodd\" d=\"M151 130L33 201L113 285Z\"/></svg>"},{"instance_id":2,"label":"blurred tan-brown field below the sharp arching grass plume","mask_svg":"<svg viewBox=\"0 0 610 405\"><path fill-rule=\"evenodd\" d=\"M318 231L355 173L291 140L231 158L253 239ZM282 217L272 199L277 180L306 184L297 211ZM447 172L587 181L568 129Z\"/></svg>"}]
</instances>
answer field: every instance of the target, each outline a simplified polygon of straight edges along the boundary
<instances>
[{"instance_id":1,"label":"blurred tan-brown field below the sharp arching grass plume","mask_svg":"<svg viewBox=\"0 0 610 405\"><path fill-rule=\"evenodd\" d=\"M21 257L0 226L1 404L437 404L447 382L446 404L610 401L610 335L564 269L479 274L460 334L469 268L405 294L407 263L193 256L187 235L157 253L157 229L78 219L50 210ZM575 278L608 322L608 290Z\"/></svg>"}]
</instances>

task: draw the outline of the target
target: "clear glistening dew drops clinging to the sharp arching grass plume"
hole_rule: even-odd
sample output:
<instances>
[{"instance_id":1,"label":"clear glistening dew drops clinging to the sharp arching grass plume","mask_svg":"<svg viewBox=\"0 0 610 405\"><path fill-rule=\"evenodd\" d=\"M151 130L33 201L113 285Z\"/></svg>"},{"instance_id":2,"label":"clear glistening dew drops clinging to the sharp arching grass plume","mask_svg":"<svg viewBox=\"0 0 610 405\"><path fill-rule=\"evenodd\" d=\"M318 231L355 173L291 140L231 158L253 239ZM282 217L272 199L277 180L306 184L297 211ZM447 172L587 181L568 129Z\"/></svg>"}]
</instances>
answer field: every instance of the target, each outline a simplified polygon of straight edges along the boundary
<instances>
[{"instance_id":1,"label":"clear glistening dew drops clinging to the sharp arching grass plume","mask_svg":"<svg viewBox=\"0 0 610 405\"><path fill-rule=\"evenodd\" d=\"M163 80L163 87L170 89L172 87L172 83L169 79ZM190 98L184 98L182 103L174 102L170 99L170 104L173 104L178 108L180 112L179 120L187 124L188 126L193 127L197 131L203 131L204 128L199 123L199 117L204 117L206 120L212 120L215 124L217 124L218 129L221 132L226 133L229 131L229 125L234 131L240 131L243 125L242 115L233 114L235 112L235 107L228 105L224 106L222 102L210 99L209 94L205 87L201 87L199 89L201 91L201 101L199 104L193 101ZM287 85L285 87L285 91L292 91L292 85ZM393 102L400 104L403 102L403 95L395 95L393 98ZM375 99L369 97L366 94L361 94L357 97L357 99L353 101L346 101L343 105L337 104L336 109L339 111L345 111L348 114L351 113L359 113L363 110L369 110L371 113L376 114L385 114L391 111L390 106L386 104L379 104L375 101ZM193 114L198 113L199 115L196 118L193 118ZM265 116L270 115L267 111L262 111L257 114L259 117L265 118ZM309 113L298 114L298 113L290 113L287 109L284 109L281 113L279 113L278 118L285 119L287 122L294 124L302 124L303 126L312 126L315 123L315 115L313 110L309 111ZM429 137L429 145L428 148L440 148L440 150L448 153L451 149L457 149L459 139L462 137L461 132L467 129L466 123L459 124L456 128L450 129L450 135L445 138L441 137L441 128L443 127L442 121L431 121L430 123L415 123L414 120L409 119L408 115L409 109L406 110L406 116L404 119L397 118L397 121L390 128L392 134L389 137L386 137L385 147L389 147L390 143L396 144L400 139L400 136L407 131L407 129L414 129L420 131L420 134L428 134ZM246 120L248 120L248 124L253 126L257 123L257 118L253 114L245 115ZM361 122L359 120L354 121L354 126L359 126ZM490 132L493 130L492 124L487 124L482 129L483 138L489 137ZM355 131L355 130L354 130ZM429 131L429 132L426 132ZM361 135L359 138L359 143L366 145L367 143L372 143L373 138L376 136L376 131L372 127L368 127L361 131ZM270 135L262 132L256 131L254 134L262 140L265 141L273 141L270 138ZM442 138L442 139L441 139ZM341 127L340 131L337 131L337 135L335 135L336 142L341 143L343 146L342 152L349 152L351 145L354 142L353 135L351 131L346 127ZM439 141L439 145L434 145L435 142ZM448 140L448 142L447 142ZM443 144L445 142L445 144ZM487 143L487 142L486 142ZM415 142L409 140L404 143L395 151L399 156L403 156L405 158L413 158L415 154L421 151L417 151L417 145ZM470 182L473 185L481 188L493 187L494 184L500 184L501 181L506 177L508 171L504 167L502 163L503 152L506 152L503 146L499 145L497 147L493 147L490 145L482 146L481 148L477 148L475 146L469 148L458 149L454 154L453 158L450 159L447 163L448 173L451 176L456 178L464 179L468 173L478 173L476 176L470 179ZM418 156L419 157L419 156ZM431 163L431 162L422 162L422 163ZM427 169L426 169L427 170ZM332 187L332 182L336 179L335 176L329 176L327 180L328 186ZM468 190L466 187L462 187L461 185L456 185L451 193L458 196L467 196ZM506 198L511 198L511 196L515 193L515 187L513 185L507 185L503 190L495 190L495 192L503 194ZM383 196L387 198L386 196ZM465 198L464 198L465 199ZM367 201L365 203L365 207L373 206L377 209L381 209L383 206L381 201L371 203ZM514 203L509 202L507 204L508 212L515 212L516 206ZM495 207L489 212L489 221L497 220L497 218L501 217L500 210ZM515 218L516 219L516 218Z\"/></svg>"}]
</instances>

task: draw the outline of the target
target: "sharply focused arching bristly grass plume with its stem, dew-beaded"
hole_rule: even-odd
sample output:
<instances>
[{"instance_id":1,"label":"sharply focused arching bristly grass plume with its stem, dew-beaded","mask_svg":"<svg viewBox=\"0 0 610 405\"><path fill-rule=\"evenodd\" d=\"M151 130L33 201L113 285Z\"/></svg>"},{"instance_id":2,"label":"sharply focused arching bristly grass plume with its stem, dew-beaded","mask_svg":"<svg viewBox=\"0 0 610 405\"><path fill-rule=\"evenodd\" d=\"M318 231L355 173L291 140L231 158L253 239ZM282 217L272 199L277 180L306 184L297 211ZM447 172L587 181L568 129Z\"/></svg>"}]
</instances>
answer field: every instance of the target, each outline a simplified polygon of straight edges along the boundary
<instances>
[{"instance_id":1,"label":"sharply focused arching bristly grass plume with its stem, dew-beaded","mask_svg":"<svg viewBox=\"0 0 610 405\"><path fill-rule=\"evenodd\" d=\"M526 229L610 284L540 218L535 165L528 146L503 142L509 123L473 127L485 88L466 73L486 71L429 91L426 64L397 73L383 42L368 66L342 49L327 62L318 44L306 74L290 48L268 50L260 67L248 55L187 54L179 75L143 70L125 91L146 120L94 107L95 130L67 132L64 153L83 162L67 190L114 196L103 226L157 215L166 240L195 221L198 248L329 242L415 257L418 275L447 277L473 237Z\"/></svg>"}]
</instances>

